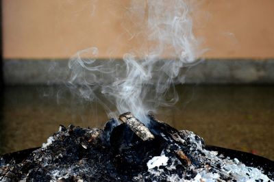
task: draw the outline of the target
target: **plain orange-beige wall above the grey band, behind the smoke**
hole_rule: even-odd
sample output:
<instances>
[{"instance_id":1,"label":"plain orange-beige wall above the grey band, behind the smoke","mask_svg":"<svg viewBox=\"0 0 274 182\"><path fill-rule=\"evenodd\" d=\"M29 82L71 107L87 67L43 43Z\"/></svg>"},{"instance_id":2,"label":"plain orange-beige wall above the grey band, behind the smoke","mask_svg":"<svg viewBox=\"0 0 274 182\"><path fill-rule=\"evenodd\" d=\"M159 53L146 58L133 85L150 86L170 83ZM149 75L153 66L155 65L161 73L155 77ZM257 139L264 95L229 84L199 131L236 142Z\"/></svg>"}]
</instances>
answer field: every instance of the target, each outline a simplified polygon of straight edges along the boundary
<instances>
[{"instance_id":1,"label":"plain orange-beige wall above the grey band, behind the smoke","mask_svg":"<svg viewBox=\"0 0 274 182\"><path fill-rule=\"evenodd\" d=\"M121 57L138 44L126 14L129 0L2 0L5 58L64 58L98 47ZM203 57L274 57L273 0L204 0L195 34Z\"/></svg>"}]
</instances>

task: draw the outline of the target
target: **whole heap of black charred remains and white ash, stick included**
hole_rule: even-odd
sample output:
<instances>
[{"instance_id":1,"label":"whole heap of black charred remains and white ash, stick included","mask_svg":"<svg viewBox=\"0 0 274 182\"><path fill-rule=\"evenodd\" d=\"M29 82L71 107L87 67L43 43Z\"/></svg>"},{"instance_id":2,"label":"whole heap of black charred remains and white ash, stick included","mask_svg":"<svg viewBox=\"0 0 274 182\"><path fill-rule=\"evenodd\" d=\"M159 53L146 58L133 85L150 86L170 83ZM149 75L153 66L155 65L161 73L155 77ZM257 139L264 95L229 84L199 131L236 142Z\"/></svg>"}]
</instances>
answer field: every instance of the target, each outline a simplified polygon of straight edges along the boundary
<instances>
[{"instance_id":1,"label":"whole heap of black charred remains and white ash, stick included","mask_svg":"<svg viewBox=\"0 0 274 182\"><path fill-rule=\"evenodd\" d=\"M215 151L191 131L132 114L104 129L60 126L21 162L0 159L0 181L271 181L264 171ZM273 174L271 174L273 175Z\"/></svg>"}]
</instances>

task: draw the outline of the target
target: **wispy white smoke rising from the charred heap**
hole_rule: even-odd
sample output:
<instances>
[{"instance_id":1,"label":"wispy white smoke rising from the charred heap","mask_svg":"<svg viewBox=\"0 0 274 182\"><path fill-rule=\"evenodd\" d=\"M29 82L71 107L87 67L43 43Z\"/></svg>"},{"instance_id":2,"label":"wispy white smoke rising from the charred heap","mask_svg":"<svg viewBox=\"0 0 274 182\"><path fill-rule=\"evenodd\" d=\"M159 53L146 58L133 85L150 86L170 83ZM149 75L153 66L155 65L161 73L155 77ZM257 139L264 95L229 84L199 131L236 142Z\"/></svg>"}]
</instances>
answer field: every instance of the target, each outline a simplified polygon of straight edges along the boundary
<instances>
[{"instance_id":1,"label":"wispy white smoke rising from the charred heap","mask_svg":"<svg viewBox=\"0 0 274 182\"><path fill-rule=\"evenodd\" d=\"M147 124L149 112L178 101L175 80L201 51L192 33L190 1L133 0L127 10L136 31L126 31L145 39L140 47L109 61L96 59L96 47L78 51L69 60L69 86L103 105L110 117L132 112Z\"/></svg>"}]
</instances>

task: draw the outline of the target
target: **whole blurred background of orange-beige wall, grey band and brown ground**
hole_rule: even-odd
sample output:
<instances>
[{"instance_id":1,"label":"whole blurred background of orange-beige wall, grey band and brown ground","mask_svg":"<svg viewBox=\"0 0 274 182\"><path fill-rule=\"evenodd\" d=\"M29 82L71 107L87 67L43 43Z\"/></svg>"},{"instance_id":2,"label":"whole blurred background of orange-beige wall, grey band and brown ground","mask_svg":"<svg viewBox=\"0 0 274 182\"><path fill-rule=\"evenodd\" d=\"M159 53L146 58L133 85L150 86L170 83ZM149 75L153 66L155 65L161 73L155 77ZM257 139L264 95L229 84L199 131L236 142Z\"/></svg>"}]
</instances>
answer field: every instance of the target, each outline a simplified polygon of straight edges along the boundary
<instances>
[{"instance_id":1,"label":"whole blurred background of orange-beige wall, grey band and brown ground","mask_svg":"<svg viewBox=\"0 0 274 182\"><path fill-rule=\"evenodd\" d=\"M60 124L103 127L103 108L64 86L68 60L97 47L99 61L119 61L138 47L129 3L1 1L0 154L41 146ZM274 1L193 5L193 31L208 51L176 86L179 102L156 116L206 144L274 160Z\"/></svg>"}]
</instances>

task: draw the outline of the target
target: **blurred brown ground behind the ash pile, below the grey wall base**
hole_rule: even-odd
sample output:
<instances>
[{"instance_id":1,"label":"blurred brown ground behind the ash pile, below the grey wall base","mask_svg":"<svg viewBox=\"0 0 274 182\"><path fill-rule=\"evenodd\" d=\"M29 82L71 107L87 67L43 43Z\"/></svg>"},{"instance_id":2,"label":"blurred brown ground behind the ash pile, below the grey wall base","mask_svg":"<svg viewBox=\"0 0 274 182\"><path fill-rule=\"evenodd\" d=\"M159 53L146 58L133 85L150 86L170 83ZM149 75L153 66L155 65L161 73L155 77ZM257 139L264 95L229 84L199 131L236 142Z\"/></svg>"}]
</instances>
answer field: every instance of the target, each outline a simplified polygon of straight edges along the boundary
<instances>
[{"instance_id":1,"label":"blurred brown ground behind the ash pile, below the grey wall base","mask_svg":"<svg viewBox=\"0 0 274 182\"><path fill-rule=\"evenodd\" d=\"M274 160L274 86L177 86L180 101L158 118L206 144ZM0 99L0 154L41 146L60 124L103 127L103 109L62 87L14 86Z\"/></svg>"}]
</instances>

